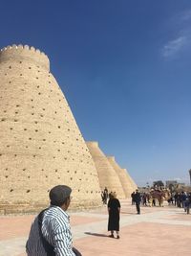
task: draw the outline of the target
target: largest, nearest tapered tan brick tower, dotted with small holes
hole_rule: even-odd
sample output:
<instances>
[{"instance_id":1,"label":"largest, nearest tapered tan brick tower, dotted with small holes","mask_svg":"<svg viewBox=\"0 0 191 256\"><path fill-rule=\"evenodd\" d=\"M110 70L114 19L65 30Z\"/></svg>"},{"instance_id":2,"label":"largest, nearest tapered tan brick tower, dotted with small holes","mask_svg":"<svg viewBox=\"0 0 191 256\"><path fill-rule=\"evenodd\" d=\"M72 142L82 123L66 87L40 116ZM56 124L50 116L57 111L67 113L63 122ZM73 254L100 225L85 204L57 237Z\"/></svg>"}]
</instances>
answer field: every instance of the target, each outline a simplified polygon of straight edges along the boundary
<instances>
[{"instance_id":1,"label":"largest, nearest tapered tan brick tower, dotted with small holes","mask_svg":"<svg viewBox=\"0 0 191 256\"><path fill-rule=\"evenodd\" d=\"M49 58L29 46L0 52L0 183L6 213L47 205L57 184L72 187L72 207L100 205L94 161Z\"/></svg>"}]
</instances>

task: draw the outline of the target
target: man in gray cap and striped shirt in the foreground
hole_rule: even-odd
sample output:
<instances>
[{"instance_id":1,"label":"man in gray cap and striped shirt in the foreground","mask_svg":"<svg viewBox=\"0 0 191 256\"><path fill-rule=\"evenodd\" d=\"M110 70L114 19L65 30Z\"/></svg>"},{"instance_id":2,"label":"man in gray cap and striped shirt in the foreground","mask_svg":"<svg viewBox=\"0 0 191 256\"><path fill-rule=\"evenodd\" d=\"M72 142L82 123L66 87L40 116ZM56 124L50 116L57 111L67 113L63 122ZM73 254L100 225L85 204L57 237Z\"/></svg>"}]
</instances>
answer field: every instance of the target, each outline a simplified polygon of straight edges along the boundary
<instances>
[{"instance_id":1,"label":"man in gray cap and striped shirt in the foreground","mask_svg":"<svg viewBox=\"0 0 191 256\"><path fill-rule=\"evenodd\" d=\"M57 185L50 191L51 205L33 221L26 244L28 256L82 256L73 247L73 238L67 209L72 189ZM37 224L37 226L36 226Z\"/></svg>"}]
</instances>

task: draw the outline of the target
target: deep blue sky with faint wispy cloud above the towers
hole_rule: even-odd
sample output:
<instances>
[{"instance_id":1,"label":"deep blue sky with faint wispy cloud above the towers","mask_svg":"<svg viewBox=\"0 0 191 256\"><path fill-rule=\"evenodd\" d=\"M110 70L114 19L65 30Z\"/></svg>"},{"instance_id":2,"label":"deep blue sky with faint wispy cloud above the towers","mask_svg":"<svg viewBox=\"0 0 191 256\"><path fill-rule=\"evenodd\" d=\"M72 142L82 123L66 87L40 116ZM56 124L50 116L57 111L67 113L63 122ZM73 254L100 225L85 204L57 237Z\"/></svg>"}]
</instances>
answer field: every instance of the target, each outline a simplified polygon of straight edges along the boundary
<instances>
[{"instance_id":1,"label":"deep blue sky with faint wispy cloud above the towers","mask_svg":"<svg viewBox=\"0 0 191 256\"><path fill-rule=\"evenodd\" d=\"M0 0L0 47L51 60L85 140L138 185L189 180L190 0Z\"/></svg>"}]
</instances>

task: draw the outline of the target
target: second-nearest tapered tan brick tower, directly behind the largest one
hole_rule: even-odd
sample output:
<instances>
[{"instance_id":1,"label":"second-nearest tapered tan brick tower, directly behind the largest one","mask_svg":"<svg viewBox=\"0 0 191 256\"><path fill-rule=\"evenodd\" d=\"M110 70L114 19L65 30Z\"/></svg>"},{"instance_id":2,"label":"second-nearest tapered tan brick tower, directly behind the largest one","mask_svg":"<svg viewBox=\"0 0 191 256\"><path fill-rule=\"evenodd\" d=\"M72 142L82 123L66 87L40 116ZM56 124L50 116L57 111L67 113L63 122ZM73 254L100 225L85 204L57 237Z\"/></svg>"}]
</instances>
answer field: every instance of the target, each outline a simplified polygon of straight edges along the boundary
<instances>
[{"instance_id":1,"label":"second-nearest tapered tan brick tower, directly behind the largest one","mask_svg":"<svg viewBox=\"0 0 191 256\"><path fill-rule=\"evenodd\" d=\"M109 192L117 193L117 198L125 198L125 193L118 175L105 154L99 149L98 143L95 141L87 141L86 144L96 165L101 190L107 187Z\"/></svg>"}]
</instances>

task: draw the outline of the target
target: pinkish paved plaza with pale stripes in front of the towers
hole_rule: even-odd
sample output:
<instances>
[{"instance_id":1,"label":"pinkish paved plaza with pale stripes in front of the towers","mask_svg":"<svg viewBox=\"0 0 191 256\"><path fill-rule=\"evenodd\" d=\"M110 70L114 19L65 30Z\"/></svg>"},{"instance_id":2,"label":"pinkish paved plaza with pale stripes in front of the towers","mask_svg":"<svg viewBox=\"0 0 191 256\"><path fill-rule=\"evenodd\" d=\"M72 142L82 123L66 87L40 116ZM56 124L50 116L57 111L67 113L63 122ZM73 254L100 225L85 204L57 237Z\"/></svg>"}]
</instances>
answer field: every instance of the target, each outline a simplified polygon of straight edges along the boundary
<instances>
[{"instance_id":1,"label":"pinkish paved plaza with pale stripes in front of the towers","mask_svg":"<svg viewBox=\"0 0 191 256\"><path fill-rule=\"evenodd\" d=\"M109 238L107 208L71 212L74 246L83 256L191 255L191 214L175 206L141 207L121 200L120 239ZM0 256L26 256L34 215L0 217Z\"/></svg>"}]
</instances>

